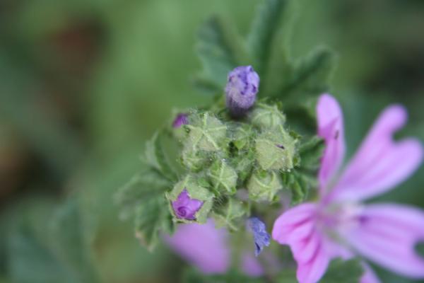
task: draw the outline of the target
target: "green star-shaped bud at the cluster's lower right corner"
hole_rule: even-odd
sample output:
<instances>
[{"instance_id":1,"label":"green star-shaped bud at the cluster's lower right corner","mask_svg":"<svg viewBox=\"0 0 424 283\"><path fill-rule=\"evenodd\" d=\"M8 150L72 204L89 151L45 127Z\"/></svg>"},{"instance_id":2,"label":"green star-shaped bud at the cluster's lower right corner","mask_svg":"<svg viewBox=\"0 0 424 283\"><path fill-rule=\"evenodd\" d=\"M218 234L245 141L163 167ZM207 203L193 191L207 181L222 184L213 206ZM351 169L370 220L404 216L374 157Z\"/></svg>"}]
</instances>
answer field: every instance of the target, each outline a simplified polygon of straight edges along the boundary
<instances>
[{"instance_id":1,"label":"green star-shaped bud at the cluster's lower right corner","mask_svg":"<svg viewBox=\"0 0 424 283\"><path fill-rule=\"evenodd\" d=\"M256 201L277 200L277 192L283 188L279 174L275 172L257 171L252 174L247 183L249 198Z\"/></svg>"}]
</instances>

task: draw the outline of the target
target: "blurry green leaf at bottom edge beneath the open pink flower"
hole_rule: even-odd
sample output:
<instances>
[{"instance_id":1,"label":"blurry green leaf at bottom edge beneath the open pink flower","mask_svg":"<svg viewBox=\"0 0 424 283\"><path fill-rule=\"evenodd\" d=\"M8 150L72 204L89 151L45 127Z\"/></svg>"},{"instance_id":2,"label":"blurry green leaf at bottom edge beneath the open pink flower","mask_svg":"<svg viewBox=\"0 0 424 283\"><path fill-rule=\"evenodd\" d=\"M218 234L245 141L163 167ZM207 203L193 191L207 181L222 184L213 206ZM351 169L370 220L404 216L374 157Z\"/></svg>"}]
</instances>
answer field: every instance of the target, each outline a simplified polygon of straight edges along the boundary
<instances>
[{"instance_id":1,"label":"blurry green leaf at bottom edge beneath the open pink flower","mask_svg":"<svg viewBox=\"0 0 424 283\"><path fill-rule=\"evenodd\" d=\"M322 277L321 283L358 283L363 275L363 267L358 258L343 261L340 258L332 260Z\"/></svg>"}]
</instances>

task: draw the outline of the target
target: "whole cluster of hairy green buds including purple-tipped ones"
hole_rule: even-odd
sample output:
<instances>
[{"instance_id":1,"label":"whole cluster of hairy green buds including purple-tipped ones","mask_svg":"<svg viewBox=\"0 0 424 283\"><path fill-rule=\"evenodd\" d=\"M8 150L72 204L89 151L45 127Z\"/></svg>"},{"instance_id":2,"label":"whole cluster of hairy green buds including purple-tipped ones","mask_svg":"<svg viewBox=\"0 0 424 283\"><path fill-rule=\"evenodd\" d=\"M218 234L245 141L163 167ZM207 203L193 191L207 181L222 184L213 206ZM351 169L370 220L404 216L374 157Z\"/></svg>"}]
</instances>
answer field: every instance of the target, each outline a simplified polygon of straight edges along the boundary
<instances>
[{"instance_id":1,"label":"whole cluster of hairy green buds including purple-tipped ones","mask_svg":"<svg viewBox=\"0 0 424 283\"><path fill-rule=\"evenodd\" d=\"M226 109L179 113L172 123L187 175L167 193L176 221L206 221L212 207L247 189L249 200L275 202L281 173L293 168L297 140L277 105L256 103L259 76L251 66L228 74Z\"/></svg>"}]
</instances>

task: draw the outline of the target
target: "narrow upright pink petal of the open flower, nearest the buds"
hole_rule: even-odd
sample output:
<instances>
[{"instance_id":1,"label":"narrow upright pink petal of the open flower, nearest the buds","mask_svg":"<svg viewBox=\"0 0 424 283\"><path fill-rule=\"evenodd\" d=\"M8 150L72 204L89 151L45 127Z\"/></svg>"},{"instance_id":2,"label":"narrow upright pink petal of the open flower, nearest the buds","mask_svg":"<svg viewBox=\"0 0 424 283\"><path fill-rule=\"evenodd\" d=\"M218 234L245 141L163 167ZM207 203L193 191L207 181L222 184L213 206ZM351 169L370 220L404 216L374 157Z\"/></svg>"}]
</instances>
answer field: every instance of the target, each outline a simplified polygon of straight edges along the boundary
<instances>
[{"instance_id":1,"label":"narrow upright pink petal of the open flower, nearest the buds","mask_svg":"<svg viewBox=\"0 0 424 283\"><path fill-rule=\"evenodd\" d=\"M325 141L318 179L323 195L334 174L340 168L345 154L343 113L337 100L329 94L319 97L317 103L318 135Z\"/></svg>"}]
</instances>

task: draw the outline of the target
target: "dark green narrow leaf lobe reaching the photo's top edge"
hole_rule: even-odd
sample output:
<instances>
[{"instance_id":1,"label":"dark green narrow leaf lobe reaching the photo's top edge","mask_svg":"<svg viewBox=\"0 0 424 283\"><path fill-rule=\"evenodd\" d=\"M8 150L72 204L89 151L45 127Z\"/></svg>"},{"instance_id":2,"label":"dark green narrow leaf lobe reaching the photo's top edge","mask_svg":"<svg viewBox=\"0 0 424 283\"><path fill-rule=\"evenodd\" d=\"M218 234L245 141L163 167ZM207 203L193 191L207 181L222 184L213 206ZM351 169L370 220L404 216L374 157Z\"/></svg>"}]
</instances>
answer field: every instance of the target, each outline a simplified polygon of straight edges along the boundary
<instances>
[{"instance_id":1,"label":"dark green narrow leaf lobe reaching the photo's top edge","mask_svg":"<svg viewBox=\"0 0 424 283\"><path fill-rule=\"evenodd\" d=\"M287 0L266 0L258 7L247 36L249 52L254 58L254 68L262 76L271 62L271 54L275 45L283 45L278 35L282 31L283 11L287 8Z\"/></svg>"}]
</instances>

